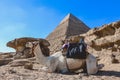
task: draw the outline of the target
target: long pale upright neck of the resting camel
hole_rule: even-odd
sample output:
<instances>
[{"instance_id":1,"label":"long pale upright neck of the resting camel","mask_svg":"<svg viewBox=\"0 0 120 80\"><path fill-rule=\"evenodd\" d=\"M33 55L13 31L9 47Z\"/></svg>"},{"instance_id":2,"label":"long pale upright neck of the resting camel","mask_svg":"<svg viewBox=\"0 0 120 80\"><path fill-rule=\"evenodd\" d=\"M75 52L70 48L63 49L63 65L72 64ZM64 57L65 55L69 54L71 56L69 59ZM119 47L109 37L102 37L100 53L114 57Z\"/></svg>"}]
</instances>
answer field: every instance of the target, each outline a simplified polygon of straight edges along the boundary
<instances>
[{"instance_id":1,"label":"long pale upright neck of the resting camel","mask_svg":"<svg viewBox=\"0 0 120 80\"><path fill-rule=\"evenodd\" d=\"M41 51L41 48L40 48L40 45L39 45L39 44L35 47L34 53L35 53L36 60L37 60L40 64L45 64L45 63L48 61L48 60L47 60L47 57L45 57L45 56L42 54L42 51Z\"/></svg>"}]
</instances>

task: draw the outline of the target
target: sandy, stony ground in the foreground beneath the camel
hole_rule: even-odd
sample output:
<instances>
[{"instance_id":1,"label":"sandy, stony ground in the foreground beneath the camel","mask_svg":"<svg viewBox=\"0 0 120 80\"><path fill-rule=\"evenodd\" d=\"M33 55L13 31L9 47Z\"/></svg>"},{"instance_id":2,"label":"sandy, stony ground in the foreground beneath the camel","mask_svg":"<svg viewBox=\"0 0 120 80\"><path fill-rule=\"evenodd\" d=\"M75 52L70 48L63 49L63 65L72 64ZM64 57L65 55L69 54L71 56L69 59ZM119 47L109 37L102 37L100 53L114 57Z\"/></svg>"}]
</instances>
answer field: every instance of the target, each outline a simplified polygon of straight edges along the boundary
<instances>
[{"instance_id":1,"label":"sandy, stony ground in the foreground beneath the camel","mask_svg":"<svg viewBox=\"0 0 120 80\"><path fill-rule=\"evenodd\" d=\"M96 75L86 76L84 73L60 74L42 71L42 65L34 64L33 70L23 66L0 67L0 80L120 80L120 64L107 64Z\"/></svg>"}]
</instances>

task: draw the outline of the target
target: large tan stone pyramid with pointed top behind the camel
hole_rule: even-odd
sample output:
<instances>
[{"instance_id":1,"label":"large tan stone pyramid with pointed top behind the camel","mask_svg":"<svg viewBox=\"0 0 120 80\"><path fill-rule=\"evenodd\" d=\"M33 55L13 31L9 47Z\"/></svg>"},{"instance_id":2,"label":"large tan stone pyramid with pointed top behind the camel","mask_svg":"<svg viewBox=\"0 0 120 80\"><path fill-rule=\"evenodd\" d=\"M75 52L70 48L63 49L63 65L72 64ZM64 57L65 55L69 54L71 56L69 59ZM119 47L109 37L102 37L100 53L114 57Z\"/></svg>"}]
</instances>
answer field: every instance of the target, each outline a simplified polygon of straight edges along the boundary
<instances>
[{"instance_id":1,"label":"large tan stone pyramid with pointed top behind the camel","mask_svg":"<svg viewBox=\"0 0 120 80\"><path fill-rule=\"evenodd\" d=\"M60 24L51 32L46 39L50 42L50 50L58 51L61 48L61 40L65 40L70 36L85 33L90 28L81 20L72 14L68 14Z\"/></svg>"}]
</instances>

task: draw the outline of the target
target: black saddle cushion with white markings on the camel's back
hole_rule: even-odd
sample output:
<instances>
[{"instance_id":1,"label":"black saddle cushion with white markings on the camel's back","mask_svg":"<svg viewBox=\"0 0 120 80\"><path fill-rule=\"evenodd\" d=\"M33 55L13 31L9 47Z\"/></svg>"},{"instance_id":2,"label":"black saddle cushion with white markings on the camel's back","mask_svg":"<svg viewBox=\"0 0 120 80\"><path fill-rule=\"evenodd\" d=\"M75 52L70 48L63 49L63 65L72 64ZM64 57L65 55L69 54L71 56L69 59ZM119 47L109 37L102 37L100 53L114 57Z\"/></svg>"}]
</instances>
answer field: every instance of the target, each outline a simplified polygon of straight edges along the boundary
<instances>
[{"instance_id":1,"label":"black saddle cushion with white markings on the camel's back","mask_svg":"<svg viewBox=\"0 0 120 80\"><path fill-rule=\"evenodd\" d=\"M86 45L84 43L70 43L66 53L66 57L75 59L86 59Z\"/></svg>"}]
</instances>

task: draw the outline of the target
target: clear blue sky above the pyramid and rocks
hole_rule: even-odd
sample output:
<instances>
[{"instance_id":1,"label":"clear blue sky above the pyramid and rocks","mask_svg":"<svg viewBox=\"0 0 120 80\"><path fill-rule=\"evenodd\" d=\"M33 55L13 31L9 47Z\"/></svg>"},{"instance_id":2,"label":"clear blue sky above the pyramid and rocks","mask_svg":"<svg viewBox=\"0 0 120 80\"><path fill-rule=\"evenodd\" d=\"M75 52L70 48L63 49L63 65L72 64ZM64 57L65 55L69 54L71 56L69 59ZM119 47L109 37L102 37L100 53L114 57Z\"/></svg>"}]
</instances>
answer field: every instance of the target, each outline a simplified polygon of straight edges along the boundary
<instances>
[{"instance_id":1,"label":"clear blue sky above the pyramid and rocks","mask_svg":"<svg viewBox=\"0 0 120 80\"><path fill-rule=\"evenodd\" d=\"M120 0L0 0L0 52L15 38L46 38L68 13L99 27L120 20Z\"/></svg>"}]
</instances>

